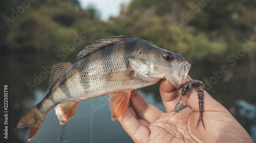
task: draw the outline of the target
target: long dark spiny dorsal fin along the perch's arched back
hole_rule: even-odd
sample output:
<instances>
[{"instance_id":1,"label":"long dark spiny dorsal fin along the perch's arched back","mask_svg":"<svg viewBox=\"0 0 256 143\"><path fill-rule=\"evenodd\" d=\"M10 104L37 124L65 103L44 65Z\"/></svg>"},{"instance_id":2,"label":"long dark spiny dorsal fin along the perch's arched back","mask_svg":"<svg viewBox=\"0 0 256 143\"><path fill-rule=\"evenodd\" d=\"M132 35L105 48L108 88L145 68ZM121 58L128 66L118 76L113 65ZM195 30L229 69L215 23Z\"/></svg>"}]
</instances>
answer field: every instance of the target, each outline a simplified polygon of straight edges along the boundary
<instances>
[{"instance_id":1,"label":"long dark spiny dorsal fin along the perch's arched back","mask_svg":"<svg viewBox=\"0 0 256 143\"><path fill-rule=\"evenodd\" d=\"M107 37L107 38L103 38L100 40L95 40L92 44L84 47L84 49L82 49L79 54L76 57L76 61L78 61L79 59L81 59L83 56L89 54L90 52L93 52L94 50L106 46L106 45L110 45L116 42L120 42L120 41L124 41L124 40L129 40L129 39L133 39L131 37L127 37L127 36L112 36L112 37Z\"/></svg>"}]
</instances>

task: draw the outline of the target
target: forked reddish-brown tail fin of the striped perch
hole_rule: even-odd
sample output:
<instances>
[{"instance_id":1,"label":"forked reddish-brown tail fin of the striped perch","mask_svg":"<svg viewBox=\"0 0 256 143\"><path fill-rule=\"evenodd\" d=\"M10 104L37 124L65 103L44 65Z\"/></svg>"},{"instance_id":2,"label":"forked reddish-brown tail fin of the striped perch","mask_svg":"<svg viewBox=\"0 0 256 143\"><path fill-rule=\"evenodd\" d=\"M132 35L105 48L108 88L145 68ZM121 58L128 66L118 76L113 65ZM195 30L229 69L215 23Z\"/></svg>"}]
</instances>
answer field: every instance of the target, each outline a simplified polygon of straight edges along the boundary
<instances>
[{"instance_id":1,"label":"forked reddish-brown tail fin of the striped perch","mask_svg":"<svg viewBox=\"0 0 256 143\"><path fill-rule=\"evenodd\" d=\"M32 139L38 132L42 121L45 120L47 112L42 115L36 105L18 122L17 128L29 127L29 139Z\"/></svg>"}]
</instances>

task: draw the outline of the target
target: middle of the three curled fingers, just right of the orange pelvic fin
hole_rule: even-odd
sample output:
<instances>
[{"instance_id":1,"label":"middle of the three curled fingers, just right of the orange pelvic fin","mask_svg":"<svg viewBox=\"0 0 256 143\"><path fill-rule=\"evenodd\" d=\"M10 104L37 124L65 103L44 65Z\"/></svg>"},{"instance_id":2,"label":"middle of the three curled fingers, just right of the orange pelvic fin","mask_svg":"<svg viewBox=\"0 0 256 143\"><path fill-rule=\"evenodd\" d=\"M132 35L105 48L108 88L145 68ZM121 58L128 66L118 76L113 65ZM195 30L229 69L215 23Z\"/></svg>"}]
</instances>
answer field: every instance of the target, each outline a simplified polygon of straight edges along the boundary
<instances>
[{"instance_id":1,"label":"middle of the three curled fingers, just right of the orange pelvic fin","mask_svg":"<svg viewBox=\"0 0 256 143\"><path fill-rule=\"evenodd\" d=\"M130 105L133 107L136 115L148 123L155 122L163 114L163 111L148 104L145 98L137 90L132 91Z\"/></svg>"}]
</instances>

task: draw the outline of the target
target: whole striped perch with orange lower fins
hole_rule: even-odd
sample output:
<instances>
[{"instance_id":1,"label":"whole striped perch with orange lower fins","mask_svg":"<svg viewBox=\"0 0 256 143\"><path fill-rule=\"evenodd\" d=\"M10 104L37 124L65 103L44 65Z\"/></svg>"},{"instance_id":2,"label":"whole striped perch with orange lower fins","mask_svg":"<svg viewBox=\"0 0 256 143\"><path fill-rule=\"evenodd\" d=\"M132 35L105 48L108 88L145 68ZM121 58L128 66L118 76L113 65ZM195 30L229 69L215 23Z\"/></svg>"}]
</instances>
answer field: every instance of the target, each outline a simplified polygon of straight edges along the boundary
<instances>
[{"instance_id":1,"label":"whole striped perch with orange lower fins","mask_svg":"<svg viewBox=\"0 0 256 143\"><path fill-rule=\"evenodd\" d=\"M190 64L174 52L126 36L96 40L77 55L73 63L53 66L46 97L18 123L29 127L29 140L39 130L48 111L55 107L61 125L75 114L80 101L109 94L112 120L129 103L131 91L166 78L175 87L187 76Z\"/></svg>"}]
</instances>

